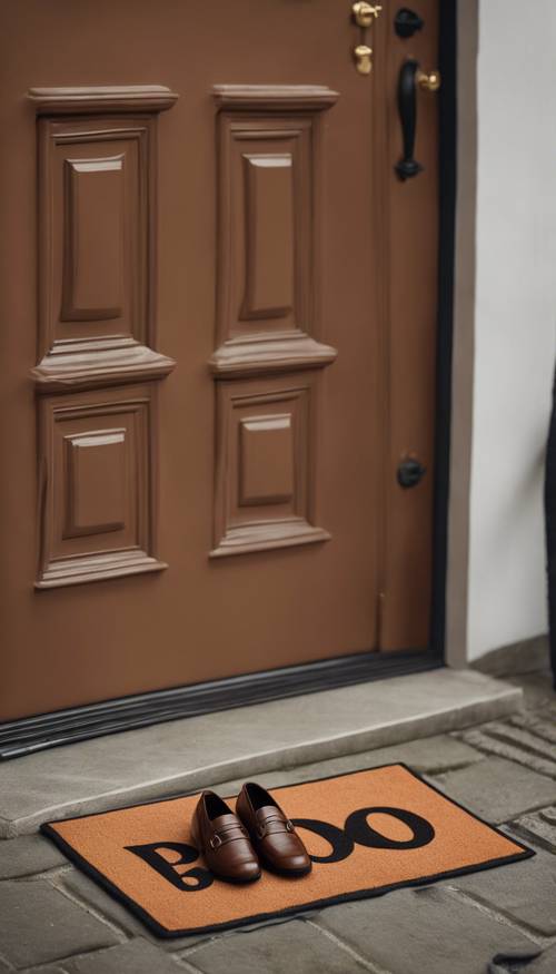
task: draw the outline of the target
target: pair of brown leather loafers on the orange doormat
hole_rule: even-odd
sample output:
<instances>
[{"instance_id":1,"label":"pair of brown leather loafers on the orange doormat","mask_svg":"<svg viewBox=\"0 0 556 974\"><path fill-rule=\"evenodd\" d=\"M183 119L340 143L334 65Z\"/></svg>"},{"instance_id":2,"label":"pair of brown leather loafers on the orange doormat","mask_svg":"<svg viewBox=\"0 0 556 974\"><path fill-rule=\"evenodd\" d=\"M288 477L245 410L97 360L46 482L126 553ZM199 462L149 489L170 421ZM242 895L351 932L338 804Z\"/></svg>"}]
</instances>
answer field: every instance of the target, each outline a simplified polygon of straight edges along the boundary
<instances>
[{"instance_id":1,"label":"pair of brown leather loafers on the orange doormat","mask_svg":"<svg viewBox=\"0 0 556 974\"><path fill-rule=\"evenodd\" d=\"M236 814L215 791L203 791L191 821L191 837L209 869L229 883L260 878L264 865L282 876L305 876L311 860L289 818L272 796L249 781Z\"/></svg>"}]
</instances>

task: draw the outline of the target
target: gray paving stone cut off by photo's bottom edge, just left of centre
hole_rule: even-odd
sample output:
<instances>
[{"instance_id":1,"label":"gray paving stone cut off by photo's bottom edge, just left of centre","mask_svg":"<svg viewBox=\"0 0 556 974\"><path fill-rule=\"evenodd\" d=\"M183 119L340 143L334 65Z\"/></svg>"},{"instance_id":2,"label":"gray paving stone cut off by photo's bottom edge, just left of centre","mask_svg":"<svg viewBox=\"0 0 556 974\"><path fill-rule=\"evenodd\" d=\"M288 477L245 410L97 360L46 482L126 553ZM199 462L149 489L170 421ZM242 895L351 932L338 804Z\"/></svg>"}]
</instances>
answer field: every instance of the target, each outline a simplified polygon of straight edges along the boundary
<instances>
[{"instance_id":1,"label":"gray paving stone cut off by photo's bottom edge, just left of centre","mask_svg":"<svg viewBox=\"0 0 556 974\"><path fill-rule=\"evenodd\" d=\"M298 919L237 932L185 957L206 974L349 974L368 970L320 931Z\"/></svg>"}]
</instances>

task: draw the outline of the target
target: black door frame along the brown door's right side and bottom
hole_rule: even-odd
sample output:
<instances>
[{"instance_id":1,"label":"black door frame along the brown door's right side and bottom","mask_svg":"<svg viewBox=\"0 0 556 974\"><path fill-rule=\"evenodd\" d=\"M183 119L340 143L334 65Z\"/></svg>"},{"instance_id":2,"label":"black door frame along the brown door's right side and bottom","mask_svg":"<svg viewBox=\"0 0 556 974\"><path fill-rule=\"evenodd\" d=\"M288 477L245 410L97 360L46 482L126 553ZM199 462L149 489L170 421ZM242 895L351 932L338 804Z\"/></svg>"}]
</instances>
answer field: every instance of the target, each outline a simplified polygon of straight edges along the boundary
<instances>
[{"instance_id":1,"label":"black door frame along the brown door's right side and bottom","mask_svg":"<svg viewBox=\"0 0 556 974\"><path fill-rule=\"evenodd\" d=\"M446 630L447 525L450 464L451 348L456 209L456 58L457 0L440 6L439 67L443 86L440 112L440 234L437 329L437 417L435 515L430 645L426 650L393 653L364 652L301 666L158 690L26 717L0 724L0 760L20 757L56 745L86 740L166 720L260 704L280 697L328 690L334 687L444 665Z\"/></svg>"}]
</instances>

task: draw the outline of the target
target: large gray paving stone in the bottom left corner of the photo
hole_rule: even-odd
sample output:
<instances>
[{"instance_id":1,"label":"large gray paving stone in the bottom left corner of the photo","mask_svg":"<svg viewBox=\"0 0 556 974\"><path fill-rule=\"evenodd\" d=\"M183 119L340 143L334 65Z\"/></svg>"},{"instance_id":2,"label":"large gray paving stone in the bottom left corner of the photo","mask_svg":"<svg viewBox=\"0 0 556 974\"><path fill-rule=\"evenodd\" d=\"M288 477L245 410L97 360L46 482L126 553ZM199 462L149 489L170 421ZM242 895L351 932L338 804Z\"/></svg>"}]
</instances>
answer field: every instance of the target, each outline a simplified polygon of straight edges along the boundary
<instances>
[{"instance_id":1,"label":"large gray paving stone in the bottom left corner of the photo","mask_svg":"<svg viewBox=\"0 0 556 974\"><path fill-rule=\"evenodd\" d=\"M16 967L46 964L117 944L100 921L43 879L0 883L0 952Z\"/></svg>"}]
</instances>

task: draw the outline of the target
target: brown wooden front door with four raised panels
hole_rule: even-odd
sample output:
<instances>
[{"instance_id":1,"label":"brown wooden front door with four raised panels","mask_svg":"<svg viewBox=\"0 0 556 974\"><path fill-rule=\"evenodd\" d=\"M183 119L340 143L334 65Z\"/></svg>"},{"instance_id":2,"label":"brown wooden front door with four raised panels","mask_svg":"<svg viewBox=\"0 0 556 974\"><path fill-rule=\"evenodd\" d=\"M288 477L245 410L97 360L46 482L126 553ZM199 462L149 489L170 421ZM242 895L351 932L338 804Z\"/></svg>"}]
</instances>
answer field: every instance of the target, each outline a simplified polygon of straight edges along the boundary
<instances>
[{"instance_id":1,"label":"brown wooden front door with four raised panels","mask_svg":"<svg viewBox=\"0 0 556 974\"><path fill-rule=\"evenodd\" d=\"M436 3L383 7L4 4L1 719L427 646Z\"/></svg>"}]
</instances>

